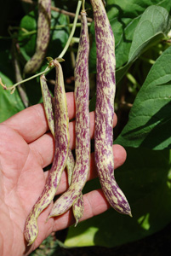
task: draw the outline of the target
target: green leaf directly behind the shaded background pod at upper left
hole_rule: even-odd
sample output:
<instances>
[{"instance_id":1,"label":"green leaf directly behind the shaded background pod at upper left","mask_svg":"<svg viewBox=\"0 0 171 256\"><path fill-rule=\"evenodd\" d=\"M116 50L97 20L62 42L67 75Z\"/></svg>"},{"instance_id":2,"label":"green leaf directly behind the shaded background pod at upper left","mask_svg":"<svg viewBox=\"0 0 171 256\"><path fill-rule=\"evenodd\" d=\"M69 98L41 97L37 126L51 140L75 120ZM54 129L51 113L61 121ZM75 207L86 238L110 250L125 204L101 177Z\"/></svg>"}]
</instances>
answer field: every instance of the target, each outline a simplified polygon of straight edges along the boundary
<instances>
[{"instance_id":1,"label":"green leaf directly behind the shaded background pod at upper left","mask_svg":"<svg viewBox=\"0 0 171 256\"><path fill-rule=\"evenodd\" d=\"M60 52L66 45L69 29L68 26L65 28L58 28L57 26L67 24L68 22L66 15L51 11L51 32L47 56L56 58L58 55L60 55ZM26 61L28 61L31 56L34 55L36 49L37 8L22 18L20 21L20 28L22 28L19 33L20 51L25 57ZM26 29L28 32L33 32L33 34L28 33L26 36L23 29Z\"/></svg>"}]
</instances>

